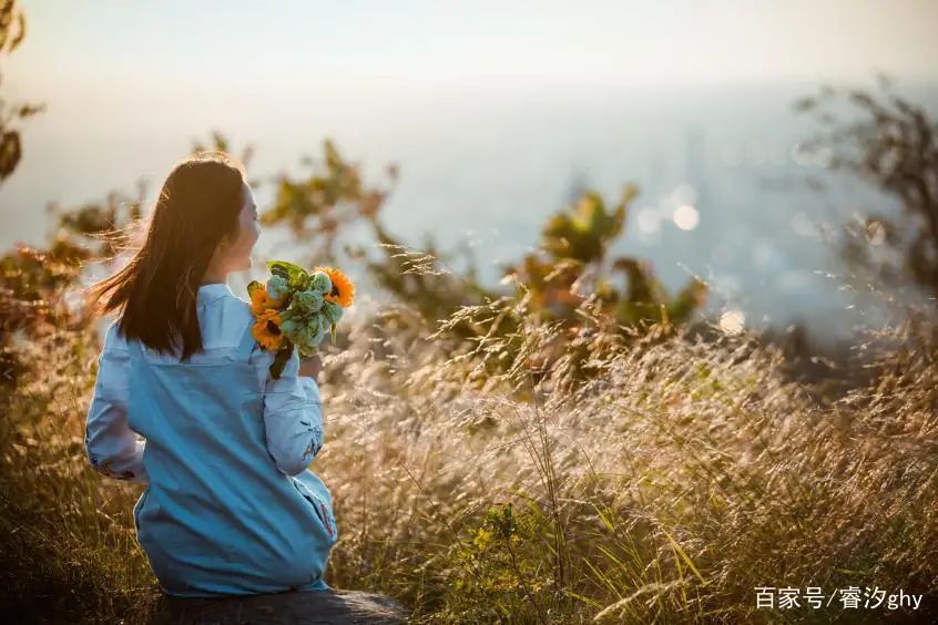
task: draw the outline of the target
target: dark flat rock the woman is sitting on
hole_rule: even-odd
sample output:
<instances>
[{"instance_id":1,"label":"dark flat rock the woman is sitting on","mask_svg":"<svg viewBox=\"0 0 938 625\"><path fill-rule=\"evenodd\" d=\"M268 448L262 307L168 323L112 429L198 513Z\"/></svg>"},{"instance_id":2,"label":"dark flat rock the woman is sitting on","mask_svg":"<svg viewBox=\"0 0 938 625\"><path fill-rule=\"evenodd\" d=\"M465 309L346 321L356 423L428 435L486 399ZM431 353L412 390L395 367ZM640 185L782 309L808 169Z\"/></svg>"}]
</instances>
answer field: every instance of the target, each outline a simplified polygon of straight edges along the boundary
<instances>
[{"instance_id":1,"label":"dark flat rock the woman is sitting on","mask_svg":"<svg viewBox=\"0 0 938 625\"><path fill-rule=\"evenodd\" d=\"M397 625L407 609L391 597L360 591L289 592L232 598L164 596L157 625Z\"/></svg>"}]
</instances>

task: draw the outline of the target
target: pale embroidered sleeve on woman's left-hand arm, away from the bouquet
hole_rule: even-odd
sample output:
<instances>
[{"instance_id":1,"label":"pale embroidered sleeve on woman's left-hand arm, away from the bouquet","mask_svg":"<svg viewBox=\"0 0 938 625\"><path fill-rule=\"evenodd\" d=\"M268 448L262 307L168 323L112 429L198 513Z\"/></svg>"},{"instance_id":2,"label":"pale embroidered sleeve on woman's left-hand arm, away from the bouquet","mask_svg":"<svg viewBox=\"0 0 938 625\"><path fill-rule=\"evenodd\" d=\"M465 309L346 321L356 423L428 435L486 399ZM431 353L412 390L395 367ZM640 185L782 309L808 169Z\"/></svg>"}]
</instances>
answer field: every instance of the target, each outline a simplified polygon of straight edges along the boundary
<instances>
[{"instance_id":1,"label":"pale embroidered sleeve on woman's left-hand arm, away from the bouquet","mask_svg":"<svg viewBox=\"0 0 938 625\"><path fill-rule=\"evenodd\" d=\"M85 419L84 449L94 469L116 480L147 483L145 442L128 424L130 352L120 345L116 325L108 328L98 358L98 377Z\"/></svg>"}]
</instances>

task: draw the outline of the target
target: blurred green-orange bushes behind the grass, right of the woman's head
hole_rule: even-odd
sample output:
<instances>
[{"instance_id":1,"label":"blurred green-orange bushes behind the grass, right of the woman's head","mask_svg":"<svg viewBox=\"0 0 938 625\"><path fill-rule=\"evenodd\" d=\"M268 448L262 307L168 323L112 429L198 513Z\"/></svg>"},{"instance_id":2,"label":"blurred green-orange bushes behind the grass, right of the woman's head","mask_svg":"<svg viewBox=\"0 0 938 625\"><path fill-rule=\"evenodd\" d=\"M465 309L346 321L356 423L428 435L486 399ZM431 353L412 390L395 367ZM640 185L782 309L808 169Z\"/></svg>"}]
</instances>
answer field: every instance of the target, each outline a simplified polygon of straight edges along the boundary
<instances>
[{"instance_id":1,"label":"blurred green-orange bushes behind the grass, right of the woman's head","mask_svg":"<svg viewBox=\"0 0 938 625\"><path fill-rule=\"evenodd\" d=\"M575 207L552 215L542 229L539 249L518 265L503 268L502 284L513 283L514 289L492 289L479 283L471 258L467 257L468 268L459 274L450 266L456 254L440 252L432 237L428 237L426 249L417 249L392 235L380 213L390 191L367 187L359 166L348 163L330 141L324 143L323 151L320 171L314 171L305 180L279 178L275 206L263 214L262 221L271 225L288 224L296 239L304 244L325 239L327 255L333 254L343 228L350 229L364 222L373 233L373 248L378 249L379 256L369 255L361 245L347 245L347 252L364 258L375 283L401 305L412 307L418 320L430 325L448 320L441 329L457 339L455 348L459 341L479 345L493 336L518 337L523 331L521 320L507 314L516 298L523 299L526 314L538 320L560 322L568 330L567 335L558 335L560 340L584 330L588 316L609 317L629 340L645 334L661 338L686 324L703 305L706 286L699 279L692 279L672 298L646 262L628 256L608 257L609 249L622 235L628 204L638 193L632 185L611 211L598 193L585 192ZM391 181L396 181L397 170L391 166L387 171ZM308 226L310 221L316 225ZM624 288L613 286L605 275L612 273L624 276ZM493 318L480 319L471 314L452 316L457 310L478 310L493 303L504 305L502 314ZM584 312L584 308L590 312ZM401 318L396 321L401 322ZM434 338L446 337L438 332ZM519 349L518 341L501 345L504 357L489 361L496 369L501 362L512 360L510 357ZM532 366L549 367L558 347L546 346L546 351L532 355ZM582 361L588 357L581 354ZM588 370L583 367L580 372L588 376Z\"/></svg>"}]
</instances>

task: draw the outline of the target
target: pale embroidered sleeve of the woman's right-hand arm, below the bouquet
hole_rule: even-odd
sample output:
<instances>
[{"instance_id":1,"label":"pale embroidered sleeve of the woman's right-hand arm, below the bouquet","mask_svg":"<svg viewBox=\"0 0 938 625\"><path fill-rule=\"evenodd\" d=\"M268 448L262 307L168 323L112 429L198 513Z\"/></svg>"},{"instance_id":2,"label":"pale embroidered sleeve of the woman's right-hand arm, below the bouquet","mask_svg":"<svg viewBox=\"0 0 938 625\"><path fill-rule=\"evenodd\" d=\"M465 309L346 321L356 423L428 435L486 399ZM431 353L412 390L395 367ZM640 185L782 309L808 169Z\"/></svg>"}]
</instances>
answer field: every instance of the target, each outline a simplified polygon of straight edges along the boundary
<instances>
[{"instance_id":1,"label":"pale embroidered sleeve of the woman's right-hand arm, below the bouquet","mask_svg":"<svg viewBox=\"0 0 938 625\"><path fill-rule=\"evenodd\" d=\"M263 352L262 366L269 368L273 354ZM266 373L264 387L264 429L267 450L277 469L296 475L323 448L323 402L319 387L308 376L299 376L299 354L293 350L278 379Z\"/></svg>"}]
</instances>

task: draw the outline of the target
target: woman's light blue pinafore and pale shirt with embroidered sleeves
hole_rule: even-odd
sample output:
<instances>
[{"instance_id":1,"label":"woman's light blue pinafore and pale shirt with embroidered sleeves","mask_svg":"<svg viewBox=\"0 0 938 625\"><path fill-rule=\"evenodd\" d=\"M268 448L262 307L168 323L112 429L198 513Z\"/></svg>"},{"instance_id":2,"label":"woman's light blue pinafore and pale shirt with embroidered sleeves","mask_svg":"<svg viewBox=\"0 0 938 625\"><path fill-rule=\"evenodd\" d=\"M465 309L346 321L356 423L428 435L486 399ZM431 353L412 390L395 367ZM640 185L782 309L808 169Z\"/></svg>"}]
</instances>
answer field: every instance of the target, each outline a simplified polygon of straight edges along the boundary
<instances>
[{"instance_id":1,"label":"woman's light blue pinafore and pale shirt with embroidered sleeves","mask_svg":"<svg viewBox=\"0 0 938 625\"><path fill-rule=\"evenodd\" d=\"M319 389L299 357L279 379L247 301L198 289L204 349L188 362L104 337L85 451L101 473L146 483L137 541L179 596L327 590L332 495L308 469L323 447Z\"/></svg>"}]
</instances>

